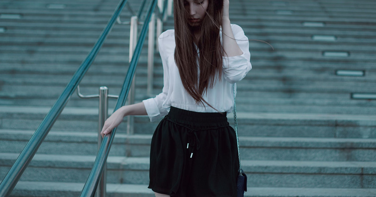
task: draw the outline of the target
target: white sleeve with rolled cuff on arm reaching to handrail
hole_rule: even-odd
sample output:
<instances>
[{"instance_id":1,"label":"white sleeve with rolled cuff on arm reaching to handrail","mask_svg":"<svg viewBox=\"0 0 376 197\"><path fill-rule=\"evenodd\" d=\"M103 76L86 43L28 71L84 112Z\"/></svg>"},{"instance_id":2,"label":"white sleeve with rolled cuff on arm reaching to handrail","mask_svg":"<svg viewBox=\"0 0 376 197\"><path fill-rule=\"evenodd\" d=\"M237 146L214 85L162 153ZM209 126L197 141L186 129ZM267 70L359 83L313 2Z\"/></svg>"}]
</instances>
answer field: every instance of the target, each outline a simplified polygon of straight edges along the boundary
<instances>
[{"instance_id":1,"label":"white sleeve with rolled cuff on arm reaching to handrail","mask_svg":"<svg viewBox=\"0 0 376 197\"><path fill-rule=\"evenodd\" d=\"M162 66L163 66L163 89L162 89L162 92L156 97L143 100L143 103L146 108L147 116L149 116L151 122L160 119L161 117L167 115L168 113L168 111L162 107L163 102L167 98L169 76L168 76L167 59L165 57L164 49L162 47L163 41L161 41L161 37L162 35L159 36L159 39L158 39L158 43L159 43L158 48L159 48L159 54L161 55Z\"/></svg>"}]
</instances>

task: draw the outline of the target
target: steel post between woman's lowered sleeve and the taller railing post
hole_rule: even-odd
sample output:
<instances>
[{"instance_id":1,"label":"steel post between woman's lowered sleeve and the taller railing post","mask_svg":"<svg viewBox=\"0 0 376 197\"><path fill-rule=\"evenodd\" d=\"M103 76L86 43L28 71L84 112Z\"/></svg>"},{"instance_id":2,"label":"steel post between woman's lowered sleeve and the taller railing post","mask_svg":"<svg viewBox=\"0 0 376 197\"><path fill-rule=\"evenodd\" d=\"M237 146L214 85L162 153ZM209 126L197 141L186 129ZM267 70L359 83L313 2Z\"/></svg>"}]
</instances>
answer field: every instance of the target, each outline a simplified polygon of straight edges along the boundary
<instances>
[{"instance_id":1,"label":"steel post between woman's lowered sleeve and the taller railing post","mask_svg":"<svg viewBox=\"0 0 376 197\"><path fill-rule=\"evenodd\" d=\"M155 48L155 14L149 22L149 36L147 44L147 95L152 95L153 92L153 75L154 75L154 48Z\"/></svg>"}]
</instances>

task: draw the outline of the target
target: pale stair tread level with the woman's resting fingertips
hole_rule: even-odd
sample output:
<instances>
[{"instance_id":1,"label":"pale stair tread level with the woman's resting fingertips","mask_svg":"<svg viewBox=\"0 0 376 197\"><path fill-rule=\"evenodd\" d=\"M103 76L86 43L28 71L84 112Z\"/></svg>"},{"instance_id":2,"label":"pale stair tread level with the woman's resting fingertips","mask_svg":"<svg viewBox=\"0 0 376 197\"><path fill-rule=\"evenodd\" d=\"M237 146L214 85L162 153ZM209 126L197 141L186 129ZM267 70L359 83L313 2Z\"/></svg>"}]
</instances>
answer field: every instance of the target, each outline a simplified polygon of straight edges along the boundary
<instances>
[{"instance_id":1,"label":"pale stair tread level with the woman's resting fingertips","mask_svg":"<svg viewBox=\"0 0 376 197\"><path fill-rule=\"evenodd\" d=\"M34 130L20 129L0 129L0 135L3 140L19 140L28 141ZM24 135L23 137L19 137ZM133 134L127 135L117 133L114 143L127 144L150 144L153 134ZM14 136L14 137L13 137ZM119 140L117 140L119 139ZM121 140L120 140L121 139ZM50 131L44 141L56 142L92 142L97 143L97 133L81 132L81 131ZM346 147L346 148L375 148L376 138L331 138L331 137L259 137L259 136L241 136L240 141L250 144L241 146L257 146L257 147ZM256 143L256 144L255 144ZM312 143L312 144L308 144ZM337 145L331 145L337 144Z\"/></svg>"}]
</instances>

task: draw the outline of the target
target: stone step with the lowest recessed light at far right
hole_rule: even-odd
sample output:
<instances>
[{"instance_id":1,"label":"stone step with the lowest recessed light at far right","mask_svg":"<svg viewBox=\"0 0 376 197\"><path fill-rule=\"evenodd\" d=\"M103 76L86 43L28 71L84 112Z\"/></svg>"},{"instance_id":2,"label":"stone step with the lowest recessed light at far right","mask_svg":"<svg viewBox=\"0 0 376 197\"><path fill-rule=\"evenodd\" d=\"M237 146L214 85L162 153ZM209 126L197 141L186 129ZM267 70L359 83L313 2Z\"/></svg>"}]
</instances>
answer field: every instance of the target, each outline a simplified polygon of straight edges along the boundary
<instances>
[{"instance_id":1,"label":"stone step with the lowest recessed light at far right","mask_svg":"<svg viewBox=\"0 0 376 197\"><path fill-rule=\"evenodd\" d=\"M141 77L137 77L139 79ZM123 81L119 81L119 84L123 83ZM37 84L37 83L35 83ZM110 84L106 82L98 83L98 84L91 84L91 83L81 83L81 92L84 95L98 93L98 88L100 86L106 85L109 87L110 94L118 95L120 92L120 85ZM239 84L240 85L240 84ZM162 90L162 86L158 84L154 84L153 93L151 95L147 95L146 93L146 82L144 83L136 83L136 100L142 101L143 99L155 97L155 95L159 94ZM290 86L291 87L291 86ZM56 101L58 96L62 93L64 86L59 84L49 84L48 86L41 86L41 85L32 85L30 84L17 84L17 85L2 85L3 90L12 91L12 92L0 92L0 98L2 100L0 103L6 104L12 101L11 103L35 103L33 105L46 105L49 106L48 103L39 103L39 101L48 101L49 103ZM237 103L238 104L248 104L249 107L257 107L257 105L302 105L302 106L326 106L326 107L358 107L362 109L364 107L371 107L376 104L373 100L367 99L351 99L351 93L376 93L373 89L369 88L362 88L356 90L349 89L343 91L334 91L335 89L332 88L333 92L330 92L331 89L322 88L320 90L305 90L305 89L289 89L287 90L286 87L281 87L279 90L267 88L267 86L262 86L260 89L251 89L248 87L238 87L237 93ZM8 101L6 101L8 100ZM83 101L83 100L82 100ZM88 104L84 106L91 106L96 107L97 99L90 99L85 100ZM110 100L111 102L111 100ZM73 104L74 103L74 104ZM77 105L79 107L79 103L81 99L74 93L72 95L71 101L68 103L69 105ZM10 104L10 103L9 103ZM93 104L93 105L92 105ZM83 107L83 106L82 106ZM366 109L364 109L366 110Z\"/></svg>"}]
</instances>

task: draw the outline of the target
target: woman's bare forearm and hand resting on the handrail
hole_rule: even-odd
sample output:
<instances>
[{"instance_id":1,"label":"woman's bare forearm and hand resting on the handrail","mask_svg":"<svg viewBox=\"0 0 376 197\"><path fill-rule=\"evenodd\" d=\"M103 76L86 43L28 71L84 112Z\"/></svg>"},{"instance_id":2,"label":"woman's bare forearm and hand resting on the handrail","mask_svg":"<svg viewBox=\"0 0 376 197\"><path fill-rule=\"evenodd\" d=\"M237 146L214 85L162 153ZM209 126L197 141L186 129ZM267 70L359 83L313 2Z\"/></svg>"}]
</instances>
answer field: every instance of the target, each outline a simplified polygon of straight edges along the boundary
<instances>
[{"instance_id":1,"label":"woman's bare forearm and hand resting on the handrail","mask_svg":"<svg viewBox=\"0 0 376 197\"><path fill-rule=\"evenodd\" d=\"M100 135L105 137L106 134L111 133L111 131L120 125L121 121L125 116L134 115L134 116L143 116L147 115L145 105L143 102L139 102L132 105L124 105L116 110L108 119L105 121L105 125L103 125L102 131Z\"/></svg>"}]
</instances>

